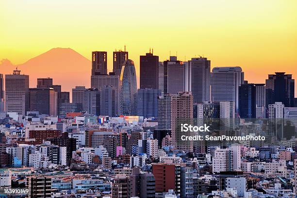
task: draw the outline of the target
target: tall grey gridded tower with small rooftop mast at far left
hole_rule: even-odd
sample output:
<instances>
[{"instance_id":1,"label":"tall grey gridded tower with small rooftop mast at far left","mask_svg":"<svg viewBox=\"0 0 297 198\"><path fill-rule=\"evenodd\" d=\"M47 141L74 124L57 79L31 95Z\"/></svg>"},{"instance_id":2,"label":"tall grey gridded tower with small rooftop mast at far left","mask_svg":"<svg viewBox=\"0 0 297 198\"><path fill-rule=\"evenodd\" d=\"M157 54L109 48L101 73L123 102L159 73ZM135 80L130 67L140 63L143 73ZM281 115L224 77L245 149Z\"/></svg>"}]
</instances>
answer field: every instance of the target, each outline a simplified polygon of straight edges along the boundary
<instances>
[{"instance_id":1,"label":"tall grey gridded tower with small rooftop mast at far left","mask_svg":"<svg viewBox=\"0 0 297 198\"><path fill-rule=\"evenodd\" d=\"M5 75L5 111L25 115L29 108L29 76L14 70Z\"/></svg>"}]
</instances>

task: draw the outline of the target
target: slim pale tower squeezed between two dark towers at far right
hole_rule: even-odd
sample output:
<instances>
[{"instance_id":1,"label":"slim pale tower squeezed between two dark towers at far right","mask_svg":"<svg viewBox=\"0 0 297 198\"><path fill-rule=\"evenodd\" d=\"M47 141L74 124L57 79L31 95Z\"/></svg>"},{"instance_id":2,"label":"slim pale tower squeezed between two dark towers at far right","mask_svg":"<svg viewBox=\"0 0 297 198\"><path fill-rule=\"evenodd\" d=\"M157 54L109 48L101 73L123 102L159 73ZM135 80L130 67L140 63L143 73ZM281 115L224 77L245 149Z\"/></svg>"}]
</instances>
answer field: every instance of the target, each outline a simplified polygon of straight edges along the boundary
<instances>
[{"instance_id":1,"label":"slim pale tower squeezed between two dark towers at far right","mask_svg":"<svg viewBox=\"0 0 297 198\"><path fill-rule=\"evenodd\" d=\"M265 84L255 84L256 86L256 117L266 117L266 91Z\"/></svg>"}]
</instances>

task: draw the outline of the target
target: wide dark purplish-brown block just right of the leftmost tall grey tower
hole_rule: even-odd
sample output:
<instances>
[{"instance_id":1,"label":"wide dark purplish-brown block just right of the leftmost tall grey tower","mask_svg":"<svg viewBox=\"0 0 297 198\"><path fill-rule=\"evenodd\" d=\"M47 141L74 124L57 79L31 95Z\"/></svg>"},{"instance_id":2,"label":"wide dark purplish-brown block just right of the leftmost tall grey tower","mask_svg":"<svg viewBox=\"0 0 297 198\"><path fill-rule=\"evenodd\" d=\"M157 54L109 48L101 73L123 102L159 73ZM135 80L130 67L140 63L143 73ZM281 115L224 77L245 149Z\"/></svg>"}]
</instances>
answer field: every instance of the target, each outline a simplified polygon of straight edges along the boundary
<instances>
[{"instance_id":1,"label":"wide dark purplish-brown block just right of the leftmost tall grey tower","mask_svg":"<svg viewBox=\"0 0 297 198\"><path fill-rule=\"evenodd\" d=\"M29 88L29 110L58 115L58 95L53 88Z\"/></svg>"}]
</instances>

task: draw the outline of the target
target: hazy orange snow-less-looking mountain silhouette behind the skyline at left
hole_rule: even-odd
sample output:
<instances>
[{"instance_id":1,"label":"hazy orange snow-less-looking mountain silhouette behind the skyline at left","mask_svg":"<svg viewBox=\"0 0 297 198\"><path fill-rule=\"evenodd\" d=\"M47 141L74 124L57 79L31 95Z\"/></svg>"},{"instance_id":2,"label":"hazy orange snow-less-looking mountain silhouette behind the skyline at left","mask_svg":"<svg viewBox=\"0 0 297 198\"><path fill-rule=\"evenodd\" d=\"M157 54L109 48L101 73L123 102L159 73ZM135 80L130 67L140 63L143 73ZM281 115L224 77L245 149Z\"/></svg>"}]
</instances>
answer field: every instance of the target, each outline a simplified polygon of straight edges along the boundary
<instances>
[{"instance_id":1,"label":"hazy orange snow-less-looking mountain silhouette behind the skyline at left","mask_svg":"<svg viewBox=\"0 0 297 198\"><path fill-rule=\"evenodd\" d=\"M47 77L70 93L78 85L90 87L91 61L70 48L53 48L19 65L3 59L0 73L11 74L16 66L22 74L30 76L30 87L36 87L37 78Z\"/></svg>"}]
</instances>

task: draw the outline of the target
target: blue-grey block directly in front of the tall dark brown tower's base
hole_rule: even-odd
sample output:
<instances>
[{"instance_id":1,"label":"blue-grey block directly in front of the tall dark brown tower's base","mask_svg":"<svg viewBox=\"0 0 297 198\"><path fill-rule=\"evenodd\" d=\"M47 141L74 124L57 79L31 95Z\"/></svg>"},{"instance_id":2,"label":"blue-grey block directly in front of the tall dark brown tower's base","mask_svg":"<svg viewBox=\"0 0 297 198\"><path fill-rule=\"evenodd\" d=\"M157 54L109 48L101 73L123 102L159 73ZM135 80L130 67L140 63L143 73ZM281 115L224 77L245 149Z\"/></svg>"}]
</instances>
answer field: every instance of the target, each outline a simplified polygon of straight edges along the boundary
<instances>
[{"instance_id":1,"label":"blue-grey block directly in front of the tall dark brown tower's base","mask_svg":"<svg viewBox=\"0 0 297 198\"><path fill-rule=\"evenodd\" d=\"M160 95L160 89L138 89L137 115L143 117L157 117L158 97Z\"/></svg>"}]
</instances>

